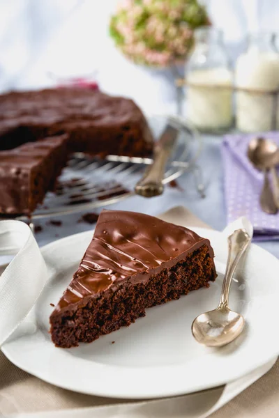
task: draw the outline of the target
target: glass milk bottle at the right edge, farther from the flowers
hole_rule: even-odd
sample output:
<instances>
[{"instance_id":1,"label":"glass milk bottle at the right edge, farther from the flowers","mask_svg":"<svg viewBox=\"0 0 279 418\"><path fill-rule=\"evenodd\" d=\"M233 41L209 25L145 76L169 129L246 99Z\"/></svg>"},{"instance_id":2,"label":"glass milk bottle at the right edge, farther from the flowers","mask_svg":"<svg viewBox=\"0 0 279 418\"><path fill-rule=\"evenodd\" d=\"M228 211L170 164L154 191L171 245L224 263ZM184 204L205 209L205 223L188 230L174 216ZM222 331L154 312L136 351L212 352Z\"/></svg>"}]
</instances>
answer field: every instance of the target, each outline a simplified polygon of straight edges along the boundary
<instances>
[{"instance_id":1,"label":"glass milk bottle at the right edge, farther from the flowers","mask_svg":"<svg viewBox=\"0 0 279 418\"><path fill-rule=\"evenodd\" d=\"M248 49L236 61L236 127L243 132L275 127L279 86L275 38L273 33L250 35Z\"/></svg>"}]
</instances>

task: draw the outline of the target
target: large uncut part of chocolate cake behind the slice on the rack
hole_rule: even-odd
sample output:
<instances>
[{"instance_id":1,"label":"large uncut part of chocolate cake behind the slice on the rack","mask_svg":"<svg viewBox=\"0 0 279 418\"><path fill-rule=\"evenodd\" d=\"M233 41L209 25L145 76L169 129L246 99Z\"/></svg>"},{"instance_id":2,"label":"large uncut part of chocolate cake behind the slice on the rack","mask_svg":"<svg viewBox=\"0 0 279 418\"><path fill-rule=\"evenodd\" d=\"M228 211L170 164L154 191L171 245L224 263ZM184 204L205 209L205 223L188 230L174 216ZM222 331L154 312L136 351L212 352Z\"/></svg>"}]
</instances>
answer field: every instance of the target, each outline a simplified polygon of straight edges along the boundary
<instances>
[{"instance_id":1,"label":"large uncut part of chocolate cake behind the slice on the rack","mask_svg":"<svg viewBox=\"0 0 279 418\"><path fill-rule=\"evenodd\" d=\"M70 150L145 157L153 139L139 107L91 88L53 88L0 95L0 150L68 133Z\"/></svg>"}]
</instances>

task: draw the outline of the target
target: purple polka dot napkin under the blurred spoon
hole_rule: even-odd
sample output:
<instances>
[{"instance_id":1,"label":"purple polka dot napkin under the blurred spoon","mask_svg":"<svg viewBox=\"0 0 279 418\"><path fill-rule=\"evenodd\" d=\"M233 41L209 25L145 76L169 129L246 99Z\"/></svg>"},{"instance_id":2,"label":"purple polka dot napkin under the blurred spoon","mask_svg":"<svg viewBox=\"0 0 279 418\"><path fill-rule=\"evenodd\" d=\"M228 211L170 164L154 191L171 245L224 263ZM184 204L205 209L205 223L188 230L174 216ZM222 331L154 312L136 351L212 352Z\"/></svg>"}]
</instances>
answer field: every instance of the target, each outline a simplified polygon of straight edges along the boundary
<instances>
[{"instance_id":1,"label":"purple polka dot napkin under the blurred spoon","mask_svg":"<svg viewBox=\"0 0 279 418\"><path fill-rule=\"evenodd\" d=\"M279 146L279 132L264 132ZM221 148L225 171L227 222L246 216L254 227L254 240L279 240L279 212L268 215L259 205L264 176L247 157L248 144L255 134L226 135Z\"/></svg>"}]
</instances>

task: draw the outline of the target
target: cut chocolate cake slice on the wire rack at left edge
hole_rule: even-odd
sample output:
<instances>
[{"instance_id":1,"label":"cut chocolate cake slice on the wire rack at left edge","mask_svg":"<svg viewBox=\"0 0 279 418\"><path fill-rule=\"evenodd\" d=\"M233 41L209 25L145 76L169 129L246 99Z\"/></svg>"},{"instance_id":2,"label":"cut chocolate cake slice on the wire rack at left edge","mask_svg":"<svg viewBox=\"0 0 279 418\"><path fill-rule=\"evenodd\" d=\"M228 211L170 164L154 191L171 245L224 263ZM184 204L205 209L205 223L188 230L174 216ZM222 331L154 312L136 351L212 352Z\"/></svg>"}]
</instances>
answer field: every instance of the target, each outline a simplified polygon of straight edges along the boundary
<instances>
[{"instance_id":1,"label":"cut chocolate cake slice on the wire rack at left edge","mask_svg":"<svg viewBox=\"0 0 279 418\"><path fill-rule=\"evenodd\" d=\"M0 212L29 215L66 165L68 135L0 151Z\"/></svg>"}]
</instances>

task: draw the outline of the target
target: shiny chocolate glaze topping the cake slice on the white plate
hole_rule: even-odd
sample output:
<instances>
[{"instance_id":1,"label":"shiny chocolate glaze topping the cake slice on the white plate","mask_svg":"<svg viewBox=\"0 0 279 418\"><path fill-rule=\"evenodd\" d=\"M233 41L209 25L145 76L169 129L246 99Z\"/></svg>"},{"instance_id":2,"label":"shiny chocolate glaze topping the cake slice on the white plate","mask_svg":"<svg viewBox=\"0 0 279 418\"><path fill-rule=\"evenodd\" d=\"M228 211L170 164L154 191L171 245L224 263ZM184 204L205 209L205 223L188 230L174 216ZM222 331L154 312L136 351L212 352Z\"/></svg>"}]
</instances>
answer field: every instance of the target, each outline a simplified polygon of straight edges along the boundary
<instances>
[{"instance_id":1,"label":"shiny chocolate glaze topping the cake slice on the white plate","mask_svg":"<svg viewBox=\"0 0 279 418\"><path fill-rule=\"evenodd\" d=\"M146 282L152 274L171 268L209 240L183 226L137 212L103 210L82 262L55 312L83 298L116 288L122 281Z\"/></svg>"}]
</instances>

